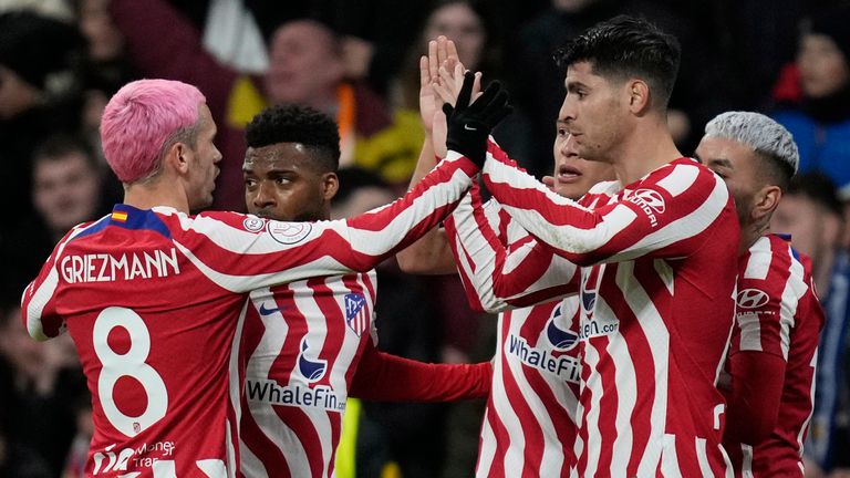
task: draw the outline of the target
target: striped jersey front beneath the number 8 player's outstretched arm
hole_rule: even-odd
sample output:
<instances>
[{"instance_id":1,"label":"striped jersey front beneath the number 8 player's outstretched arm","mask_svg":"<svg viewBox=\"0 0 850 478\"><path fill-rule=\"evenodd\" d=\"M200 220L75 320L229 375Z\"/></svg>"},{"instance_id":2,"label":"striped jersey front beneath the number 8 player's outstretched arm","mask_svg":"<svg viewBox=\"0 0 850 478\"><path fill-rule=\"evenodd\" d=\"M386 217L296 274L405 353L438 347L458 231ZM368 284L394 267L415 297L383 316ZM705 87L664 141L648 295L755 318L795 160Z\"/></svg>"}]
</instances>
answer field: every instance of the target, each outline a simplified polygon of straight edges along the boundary
<instances>
[{"instance_id":1,"label":"striped jersey front beneath the number 8 player's outstretched arm","mask_svg":"<svg viewBox=\"0 0 850 478\"><path fill-rule=\"evenodd\" d=\"M374 271L251 292L241 346L245 476L332 476L348 391L376 341L375 293Z\"/></svg>"}]
</instances>

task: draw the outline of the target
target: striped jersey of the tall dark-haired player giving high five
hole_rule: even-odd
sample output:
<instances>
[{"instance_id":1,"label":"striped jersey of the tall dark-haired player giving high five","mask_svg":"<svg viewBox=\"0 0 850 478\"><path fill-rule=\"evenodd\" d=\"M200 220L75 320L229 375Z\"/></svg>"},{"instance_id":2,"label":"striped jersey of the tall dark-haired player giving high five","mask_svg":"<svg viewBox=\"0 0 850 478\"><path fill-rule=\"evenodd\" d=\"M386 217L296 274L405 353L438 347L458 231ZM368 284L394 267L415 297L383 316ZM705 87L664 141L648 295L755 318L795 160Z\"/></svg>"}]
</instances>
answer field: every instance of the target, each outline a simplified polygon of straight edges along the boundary
<instances>
[{"instance_id":1,"label":"striped jersey of the tall dark-haired player giving high five","mask_svg":"<svg viewBox=\"0 0 850 478\"><path fill-rule=\"evenodd\" d=\"M578 475L723 475L716 383L739 237L723 180L680 158L577 204L496 147L484 179L526 230L582 266Z\"/></svg>"}]
</instances>

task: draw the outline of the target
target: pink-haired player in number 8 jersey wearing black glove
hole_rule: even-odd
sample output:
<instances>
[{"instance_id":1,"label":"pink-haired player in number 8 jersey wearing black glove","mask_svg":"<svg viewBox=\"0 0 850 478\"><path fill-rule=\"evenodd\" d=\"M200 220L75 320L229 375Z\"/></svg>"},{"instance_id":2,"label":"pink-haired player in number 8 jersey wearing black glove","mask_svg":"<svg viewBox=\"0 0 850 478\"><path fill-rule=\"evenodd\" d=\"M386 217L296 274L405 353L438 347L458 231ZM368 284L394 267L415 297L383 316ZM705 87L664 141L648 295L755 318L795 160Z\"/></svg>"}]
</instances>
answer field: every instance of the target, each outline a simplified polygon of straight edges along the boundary
<instances>
[{"instance_id":1,"label":"pink-haired player in number 8 jersey wearing black glove","mask_svg":"<svg viewBox=\"0 0 850 478\"><path fill-rule=\"evenodd\" d=\"M211 202L221 159L204 95L165 80L122 87L101 136L124 204L73 228L22 299L31 336L68 330L80 353L95 426L86 474L235 476L247 294L366 272L434 227L484 163L478 134L509 112L505 92L488 93L449 118L475 159L456 154L421 187L360 217L292 224L189 215Z\"/></svg>"}]
</instances>

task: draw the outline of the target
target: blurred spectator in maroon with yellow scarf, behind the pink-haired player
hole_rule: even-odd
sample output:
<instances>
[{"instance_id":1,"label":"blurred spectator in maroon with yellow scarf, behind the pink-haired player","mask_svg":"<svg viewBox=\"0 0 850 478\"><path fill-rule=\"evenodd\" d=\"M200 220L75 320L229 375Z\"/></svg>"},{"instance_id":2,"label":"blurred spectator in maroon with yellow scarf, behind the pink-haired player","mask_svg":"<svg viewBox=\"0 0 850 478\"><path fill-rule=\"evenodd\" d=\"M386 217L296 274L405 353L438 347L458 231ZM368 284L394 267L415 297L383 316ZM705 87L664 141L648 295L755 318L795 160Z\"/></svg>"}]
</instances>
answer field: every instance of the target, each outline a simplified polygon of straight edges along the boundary
<instances>
[{"instance_id":1,"label":"blurred spectator in maroon with yellow scarf, behind the pink-haired player","mask_svg":"<svg viewBox=\"0 0 850 478\"><path fill-rule=\"evenodd\" d=\"M164 0L114 0L111 8L144 74L197 84L207 96L220 125L217 143L224 155L215 208L245 209L242 129L267 104L298 103L334 115L341 165L357 164L391 181L406 180L396 165L415 164L421 136L408 134L410 127L363 84L344 81L340 39L325 24L308 19L281 24L269 43L269 71L256 77L216 62L204 51L199 32Z\"/></svg>"}]
</instances>

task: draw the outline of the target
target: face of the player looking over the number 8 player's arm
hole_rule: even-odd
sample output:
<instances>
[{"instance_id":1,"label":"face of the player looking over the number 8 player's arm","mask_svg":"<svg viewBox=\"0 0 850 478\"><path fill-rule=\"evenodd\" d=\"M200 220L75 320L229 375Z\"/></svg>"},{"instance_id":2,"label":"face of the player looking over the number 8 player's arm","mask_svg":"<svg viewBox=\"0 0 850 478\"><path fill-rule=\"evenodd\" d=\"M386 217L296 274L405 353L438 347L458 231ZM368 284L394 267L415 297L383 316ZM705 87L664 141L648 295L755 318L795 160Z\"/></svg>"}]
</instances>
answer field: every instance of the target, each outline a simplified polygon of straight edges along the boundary
<instances>
[{"instance_id":1,"label":"face of the player looking over the number 8 player's arm","mask_svg":"<svg viewBox=\"0 0 850 478\"><path fill-rule=\"evenodd\" d=\"M283 221L328 219L336 175L318 170L310 155L300 143L249 147L242 165L248 212Z\"/></svg>"}]
</instances>

